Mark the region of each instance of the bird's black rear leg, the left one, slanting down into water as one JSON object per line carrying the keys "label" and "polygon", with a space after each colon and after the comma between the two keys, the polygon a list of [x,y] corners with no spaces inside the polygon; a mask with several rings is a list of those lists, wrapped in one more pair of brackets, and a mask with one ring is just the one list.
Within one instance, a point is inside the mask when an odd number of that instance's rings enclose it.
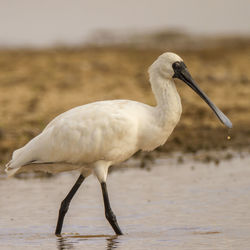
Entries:
{"label": "bird's black rear leg, the left one, slanting down into water", "polygon": [[56,235],[60,235],[61,234],[64,216],[65,216],[65,214],[67,213],[67,211],[69,209],[69,204],[70,204],[73,196],[75,195],[76,191],[81,186],[81,184],[84,181],[84,179],[85,179],[84,176],[80,175],[79,178],[77,179],[76,183],[74,184],[74,186],[69,191],[69,193],[66,196],[66,198],[62,201],[61,207],[60,207],[60,210],[59,210],[56,231],[55,231]]}

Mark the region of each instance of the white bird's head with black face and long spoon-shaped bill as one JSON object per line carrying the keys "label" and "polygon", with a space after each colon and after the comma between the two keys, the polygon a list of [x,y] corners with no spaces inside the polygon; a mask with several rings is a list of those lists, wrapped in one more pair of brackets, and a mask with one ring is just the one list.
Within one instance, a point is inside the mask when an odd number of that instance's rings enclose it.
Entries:
{"label": "white bird's head with black face and long spoon-shaped bill", "polygon": [[151,65],[149,69],[150,74],[157,74],[165,79],[178,78],[185,82],[190,88],[192,88],[214,111],[220,121],[227,126],[232,128],[231,121],[217,108],[207,95],[198,87],[189,73],[187,66],[183,60],[176,54],[166,52],[158,57],[158,59]]}

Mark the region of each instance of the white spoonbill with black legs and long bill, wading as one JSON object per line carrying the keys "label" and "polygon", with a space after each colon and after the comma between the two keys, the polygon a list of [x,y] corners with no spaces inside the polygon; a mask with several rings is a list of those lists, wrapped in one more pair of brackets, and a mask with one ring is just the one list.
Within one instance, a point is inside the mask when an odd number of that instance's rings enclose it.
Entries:
{"label": "white spoonbill with black legs and long bill, wading", "polygon": [[167,141],[182,113],[175,79],[191,87],[219,120],[232,128],[231,121],[198,87],[180,56],[165,52],[153,62],[148,72],[155,106],[132,100],[105,100],[75,107],[54,118],[39,135],[14,151],[6,164],[8,176],[36,170],[79,172],[78,179],[61,202],[55,235],[61,235],[73,196],[92,174],[101,185],[107,221],[116,235],[123,234],[109,201],[108,169],[139,150],[152,151]]}

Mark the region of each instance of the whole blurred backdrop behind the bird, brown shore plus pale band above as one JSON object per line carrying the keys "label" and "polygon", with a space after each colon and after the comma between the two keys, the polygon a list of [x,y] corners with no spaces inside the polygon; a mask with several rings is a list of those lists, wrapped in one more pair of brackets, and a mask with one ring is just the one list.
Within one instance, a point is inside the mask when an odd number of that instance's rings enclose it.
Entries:
{"label": "whole blurred backdrop behind the bird, brown shore plus pale band above", "polygon": [[0,162],[74,106],[115,98],[154,105],[147,68],[165,51],[185,60],[234,128],[178,82],[183,116],[158,152],[245,150],[249,23],[248,0],[0,1]]}

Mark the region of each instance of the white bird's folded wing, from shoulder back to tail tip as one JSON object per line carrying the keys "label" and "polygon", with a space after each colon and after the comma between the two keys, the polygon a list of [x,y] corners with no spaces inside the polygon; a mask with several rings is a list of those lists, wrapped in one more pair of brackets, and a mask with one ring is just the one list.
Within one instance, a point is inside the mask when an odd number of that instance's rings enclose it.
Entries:
{"label": "white bird's folded wing, from shoulder back to tail tip", "polygon": [[15,169],[35,162],[123,160],[138,150],[134,105],[129,101],[106,101],[69,110],[16,150],[6,167]]}

